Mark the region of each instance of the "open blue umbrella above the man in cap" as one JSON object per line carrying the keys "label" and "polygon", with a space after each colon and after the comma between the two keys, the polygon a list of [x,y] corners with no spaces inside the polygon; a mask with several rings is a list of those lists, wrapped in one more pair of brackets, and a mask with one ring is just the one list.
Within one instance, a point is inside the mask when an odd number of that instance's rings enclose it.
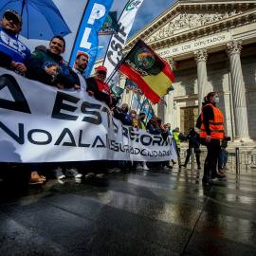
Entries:
{"label": "open blue umbrella above the man in cap", "polygon": [[27,39],[51,40],[55,35],[71,33],[51,0],[1,0],[0,18],[7,9],[18,11],[23,20],[20,34]]}

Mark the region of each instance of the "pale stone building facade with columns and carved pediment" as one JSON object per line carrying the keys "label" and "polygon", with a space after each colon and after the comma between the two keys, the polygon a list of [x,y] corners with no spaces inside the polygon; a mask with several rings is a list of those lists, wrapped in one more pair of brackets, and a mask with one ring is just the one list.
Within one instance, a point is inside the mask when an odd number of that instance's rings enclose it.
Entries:
{"label": "pale stone building facade with columns and carved pediment", "polygon": [[[155,113],[172,128],[193,125],[203,97],[220,96],[218,107],[234,145],[256,140],[256,1],[177,1],[126,43],[142,39],[171,65],[174,91]],[[120,86],[124,86],[122,78]],[[130,102],[131,92],[123,96]],[[186,131],[184,131],[186,134]]]}

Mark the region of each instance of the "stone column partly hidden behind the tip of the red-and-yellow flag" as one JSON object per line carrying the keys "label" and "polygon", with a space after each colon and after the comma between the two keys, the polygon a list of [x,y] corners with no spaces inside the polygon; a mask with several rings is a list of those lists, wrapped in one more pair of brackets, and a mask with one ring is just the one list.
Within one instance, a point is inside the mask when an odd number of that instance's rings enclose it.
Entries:
{"label": "stone column partly hidden behind the tip of the red-and-yellow flag", "polygon": [[[174,58],[169,57],[166,58],[165,61],[170,64],[172,70],[174,70],[175,62]],[[169,94],[164,96],[164,100],[167,103],[167,106],[164,106],[164,123],[171,123],[171,127],[173,128],[174,122],[174,92],[170,92]]]}

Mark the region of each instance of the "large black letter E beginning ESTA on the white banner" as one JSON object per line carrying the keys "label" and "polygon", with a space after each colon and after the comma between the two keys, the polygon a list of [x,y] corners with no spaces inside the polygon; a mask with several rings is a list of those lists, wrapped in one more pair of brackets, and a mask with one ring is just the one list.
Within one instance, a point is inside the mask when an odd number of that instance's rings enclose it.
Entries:
{"label": "large black letter E beginning ESTA on the white banner", "polygon": [[78,101],[80,101],[80,99],[77,97],[74,97],[72,95],[65,94],[63,92],[58,91],[57,95],[56,95],[55,102],[54,102],[54,107],[52,110],[51,118],[52,119],[63,119],[63,120],[78,119],[78,116],[72,116],[72,115],[67,115],[67,114],[61,113],[62,109],[66,110],[66,111],[70,111],[70,112],[75,112],[77,110],[77,107],[68,105],[68,104],[64,103],[63,101],[69,101],[69,102],[76,104]]}

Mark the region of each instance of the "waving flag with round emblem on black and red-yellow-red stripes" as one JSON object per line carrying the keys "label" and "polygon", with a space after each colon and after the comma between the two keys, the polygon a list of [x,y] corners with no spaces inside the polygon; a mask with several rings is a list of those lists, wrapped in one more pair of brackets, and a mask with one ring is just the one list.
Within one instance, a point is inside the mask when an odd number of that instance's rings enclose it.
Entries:
{"label": "waving flag with round emblem on black and red-yellow-red stripes", "polygon": [[119,71],[136,82],[145,97],[154,104],[167,93],[174,82],[170,65],[142,40],[138,40],[124,58]]}

